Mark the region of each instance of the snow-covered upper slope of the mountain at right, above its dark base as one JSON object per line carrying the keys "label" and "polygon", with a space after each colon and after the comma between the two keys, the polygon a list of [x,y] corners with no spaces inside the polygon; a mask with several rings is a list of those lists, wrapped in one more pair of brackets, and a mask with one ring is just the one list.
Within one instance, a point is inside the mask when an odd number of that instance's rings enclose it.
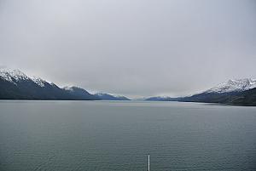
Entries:
{"label": "snow-covered upper slope of the mountain at right, above its dark base", "polygon": [[250,78],[233,79],[224,83],[218,84],[218,86],[208,89],[205,93],[230,93],[241,92],[248,89],[256,88],[256,80]]}

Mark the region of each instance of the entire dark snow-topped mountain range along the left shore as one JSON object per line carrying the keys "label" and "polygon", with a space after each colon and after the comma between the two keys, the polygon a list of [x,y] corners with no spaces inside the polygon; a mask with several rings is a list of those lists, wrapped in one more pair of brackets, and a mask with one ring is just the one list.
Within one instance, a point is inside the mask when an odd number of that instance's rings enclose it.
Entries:
{"label": "entire dark snow-topped mountain range along the left shore", "polygon": [[28,77],[19,70],[0,69],[1,100],[129,100],[110,94],[90,94],[75,86],[60,88],[40,77]]}

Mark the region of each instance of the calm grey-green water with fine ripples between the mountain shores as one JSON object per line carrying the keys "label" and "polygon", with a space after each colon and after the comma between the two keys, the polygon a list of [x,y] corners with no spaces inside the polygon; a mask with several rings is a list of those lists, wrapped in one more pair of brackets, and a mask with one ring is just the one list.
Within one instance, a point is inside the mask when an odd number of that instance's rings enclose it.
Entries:
{"label": "calm grey-green water with fine ripples between the mountain shores", "polygon": [[0,101],[0,170],[256,170],[256,107]]}

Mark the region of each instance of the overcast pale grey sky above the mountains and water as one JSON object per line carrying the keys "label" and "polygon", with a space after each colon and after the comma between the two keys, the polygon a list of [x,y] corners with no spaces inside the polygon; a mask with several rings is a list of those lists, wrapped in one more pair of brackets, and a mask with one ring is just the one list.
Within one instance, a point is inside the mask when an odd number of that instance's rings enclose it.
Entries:
{"label": "overcast pale grey sky above the mountains and water", "polygon": [[0,0],[0,65],[128,97],[256,78],[256,1]]}

